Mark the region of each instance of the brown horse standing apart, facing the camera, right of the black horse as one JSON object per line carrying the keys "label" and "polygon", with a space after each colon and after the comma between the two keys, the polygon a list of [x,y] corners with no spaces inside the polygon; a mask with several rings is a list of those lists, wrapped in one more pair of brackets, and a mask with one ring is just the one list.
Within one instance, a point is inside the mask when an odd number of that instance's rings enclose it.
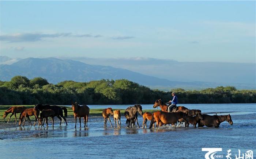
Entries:
{"label": "brown horse standing apart, facing the camera, right of the black horse", "polygon": [[[75,103],[72,102],[71,105],[72,105],[72,110],[74,113],[75,121],[76,121],[76,117],[79,117],[79,123],[80,123],[80,127],[81,127],[81,117],[83,117],[84,127],[87,127],[90,108],[87,105],[80,106],[80,105],[76,104],[76,102]],[[75,124],[75,128],[76,128],[76,124]]]}

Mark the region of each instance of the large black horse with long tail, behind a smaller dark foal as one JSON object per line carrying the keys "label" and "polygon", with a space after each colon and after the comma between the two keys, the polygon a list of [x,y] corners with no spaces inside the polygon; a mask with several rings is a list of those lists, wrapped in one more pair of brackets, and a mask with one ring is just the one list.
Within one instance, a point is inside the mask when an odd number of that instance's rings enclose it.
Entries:
{"label": "large black horse with long tail, behind a smaller dark foal", "polygon": [[[57,106],[57,105],[48,105],[48,104],[45,104],[45,105],[35,104],[34,108],[37,108],[40,111],[52,109],[55,112],[54,116],[57,116],[60,119],[60,125],[61,125],[61,118],[63,118],[65,120],[66,126],[68,125],[67,120],[66,120],[66,117],[68,116],[67,108],[65,108],[65,107],[61,108],[60,106]],[[64,116],[63,116],[63,111],[64,111]]]}

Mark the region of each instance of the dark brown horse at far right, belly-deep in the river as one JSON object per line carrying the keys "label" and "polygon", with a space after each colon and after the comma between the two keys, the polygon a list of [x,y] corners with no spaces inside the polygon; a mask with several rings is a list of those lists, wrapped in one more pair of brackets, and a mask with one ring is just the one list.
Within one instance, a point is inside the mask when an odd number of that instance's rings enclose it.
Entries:
{"label": "dark brown horse at far right, belly-deep in the river", "polygon": [[230,114],[229,115],[213,115],[213,116],[203,114],[202,116],[200,116],[200,119],[201,119],[201,123],[203,125],[206,125],[207,127],[218,128],[223,121],[227,121],[230,125],[233,125],[233,121],[231,119]]}

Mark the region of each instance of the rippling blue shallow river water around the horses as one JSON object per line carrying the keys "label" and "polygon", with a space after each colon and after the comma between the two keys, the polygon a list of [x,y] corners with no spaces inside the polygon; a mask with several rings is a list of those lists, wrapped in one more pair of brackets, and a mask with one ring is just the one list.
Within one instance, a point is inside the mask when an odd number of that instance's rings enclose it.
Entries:
{"label": "rippling blue shallow river water around the horses", "polygon": [[[241,153],[252,150],[256,155],[255,104],[196,106],[188,105],[188,108],[225,112],[221,114],[232,112],[234,124],[225,121],[220,128],[193,128],[192,125],[176,129],[169,126],[125,128],[122,117],[121,129],[109,127],[109,122],[105,129],[99,117],[89,118],[88,128],[75,129],[75,123],[68,123],[67,127],[55,124],[54,130],[33,126],[5,128],[0,129],[3,139],[0,140],[0,158],[204,158],[206,152],[202,152],[202,148],[208,147],[222,148],[216,155],[223,155],[223,158],[229,149],[232,158],[236,158],[238,149]],[[143,109],[148,108],[143,105]],[[114,124],[113,117],[111,119]],[[142,117],[138,120],[142,126]],[[59,123],[57,119],[56,123]],[[150,121],[147,126],[149,124]],[[10,151],[11,154],[7,153]]]}

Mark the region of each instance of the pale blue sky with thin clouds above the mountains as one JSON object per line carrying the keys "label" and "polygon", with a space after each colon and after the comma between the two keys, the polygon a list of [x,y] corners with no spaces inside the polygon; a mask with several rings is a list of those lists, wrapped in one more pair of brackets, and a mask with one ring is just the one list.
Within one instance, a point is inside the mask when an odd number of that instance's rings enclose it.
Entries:
{"label": "pale blue sky with thin clouds above the mountains", "polygon": [[255,63],[255,8],[255,1],[0,1],[0,54]]}

